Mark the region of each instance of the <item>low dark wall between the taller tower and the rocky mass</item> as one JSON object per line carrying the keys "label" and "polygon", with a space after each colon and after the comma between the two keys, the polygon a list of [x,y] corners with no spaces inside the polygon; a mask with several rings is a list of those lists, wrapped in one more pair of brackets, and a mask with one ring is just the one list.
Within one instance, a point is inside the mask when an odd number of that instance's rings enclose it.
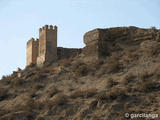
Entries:
{"label": "low dark wall between the taller tower and the rocky mass", "polygon": [[76,56],[79,53],[81,53],[81,49],[63,47],[57,48],[58,59],[69,58],[71,56]]}

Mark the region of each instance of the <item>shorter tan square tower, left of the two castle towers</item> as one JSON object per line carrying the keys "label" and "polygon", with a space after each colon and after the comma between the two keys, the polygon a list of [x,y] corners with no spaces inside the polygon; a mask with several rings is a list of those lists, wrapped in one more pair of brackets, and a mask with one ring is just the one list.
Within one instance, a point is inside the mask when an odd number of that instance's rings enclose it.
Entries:
{"label": "shorter tan square tower, left of the two castle towers", "polygon": [[34,38],[31,38],[27,42],[27,66],[37,63],[39,47],[38,42],[39,40],[35,40]]}

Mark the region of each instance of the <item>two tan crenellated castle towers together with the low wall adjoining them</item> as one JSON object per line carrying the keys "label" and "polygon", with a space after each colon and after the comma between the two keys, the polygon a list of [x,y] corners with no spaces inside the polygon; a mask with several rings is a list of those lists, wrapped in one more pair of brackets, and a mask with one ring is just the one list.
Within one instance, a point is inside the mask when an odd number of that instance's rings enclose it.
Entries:
{"label": "two tan crenellated castle towers together with the low wall adjoining them", "polygon": [[27,42],[27,66],[40,66],[81,52],[81,49],[57,47],[57,29],[57,26],[45,25],[39,29],[39,39],[31,38]]}

